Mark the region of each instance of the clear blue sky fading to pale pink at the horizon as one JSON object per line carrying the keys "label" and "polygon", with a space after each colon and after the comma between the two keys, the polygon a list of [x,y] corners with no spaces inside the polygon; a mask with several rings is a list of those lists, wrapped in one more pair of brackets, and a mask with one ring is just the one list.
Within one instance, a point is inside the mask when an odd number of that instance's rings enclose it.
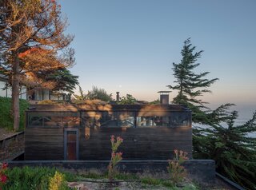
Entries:
{"label": "clear blue sky fading to pale pink at the horizon", "polygon": [[[172,63],[182,59],[191,38],[203,50],[196,73],[218,77],[203,100],[211,108],[234,103],[240,117],[256,110],[255,0],[59,0],[73,34],[76,65],[84,91],[132,94],[154,101],[174,85]],[[170,93],[170,100],[177,92]]]}

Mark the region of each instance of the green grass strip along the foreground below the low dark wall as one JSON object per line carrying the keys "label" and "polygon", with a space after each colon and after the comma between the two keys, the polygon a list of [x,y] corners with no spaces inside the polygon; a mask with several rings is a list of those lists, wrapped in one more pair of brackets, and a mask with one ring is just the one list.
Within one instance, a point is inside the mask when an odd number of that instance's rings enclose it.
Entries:
{"label": "green grass strip along the foreground below the low dark wall", "polygon": [[[3,190],[14,190],[14,189],[49,189],[50,180],[53,180],[55,172],[64,176],[64,188],[70,189],[67,187],[67,181],[79,181],[86,179],[97,179],[97,180],[107,180],[106,173],[100,173],[95,171],[86,171],[81,170],[80,173],[70,172],[68,170],[60,170],[58,168],[48,168],[48,167],[14,167],[8,168],[6,175],[8,176],[8,182],[3,186]],[[172,190],[196,190],[198,187],[192,182],[186,183],[182,188],[174,187],[174,184],[170,180],[155,179],[148,176],[138,176],[135,174],[125,174],[118,173],[115,177],[116,180],[124,181],[134,181],[141,184],[142,188],[146,189],[157,189],[158,187],[166,187]],[[62,188],[60,188],[62,189]],[[118,189],[118,187],[116,188]]]}

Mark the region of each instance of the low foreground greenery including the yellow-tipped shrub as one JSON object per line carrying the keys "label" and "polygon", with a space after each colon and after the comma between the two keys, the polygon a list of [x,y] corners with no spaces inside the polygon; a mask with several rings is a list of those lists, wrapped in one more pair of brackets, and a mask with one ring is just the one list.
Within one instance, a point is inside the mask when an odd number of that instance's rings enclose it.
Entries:
{"label": "low foreground greenery including the yellow-tipped shrub", "polygon": [[[67,190],[66,181],[78,181],[84,180],[81,176],[74,175],[70,172],[60,172],[56,168],[47,167],[14,167],[8,168],[6,170],[6,175],[8,176],[7,183],[3,186],[2,190],[46,190],[46,189],[59,189]],[[99,175],[98,173],[90,172],[86,174],[86,178],[94,179],[106,179],[106,175]],[[125,174],[118,173],[116,176],[119,180],[135,180],[140,181],[141,184],[145,184],[144,187],[147,189],[156,189],[162,186],[168,187],[170,189],[191,189],[195,190],[194,184],[186,183],[183,188],[176,188],[170,180],[156,179],[149,176],[138,176],[136,174]],[[59,184],[59,185],[58,185]],[[156,187],[154,187],[156,186]]]}

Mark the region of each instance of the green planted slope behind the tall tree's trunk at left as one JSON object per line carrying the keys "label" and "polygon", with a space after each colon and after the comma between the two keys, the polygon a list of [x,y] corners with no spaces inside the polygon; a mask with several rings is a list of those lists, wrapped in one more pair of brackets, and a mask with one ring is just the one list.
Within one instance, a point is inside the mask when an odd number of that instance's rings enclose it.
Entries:
{"label": "green planted slope behind the tall tree's trunk at left", "polygon": [[[25,110],[29,107],[26,100],[20,100],[20,123],[19,130],[25,127]],[[14,128],[14,119],[11,117],[11,98],[0,97],[0,127],[12,130]]]}

